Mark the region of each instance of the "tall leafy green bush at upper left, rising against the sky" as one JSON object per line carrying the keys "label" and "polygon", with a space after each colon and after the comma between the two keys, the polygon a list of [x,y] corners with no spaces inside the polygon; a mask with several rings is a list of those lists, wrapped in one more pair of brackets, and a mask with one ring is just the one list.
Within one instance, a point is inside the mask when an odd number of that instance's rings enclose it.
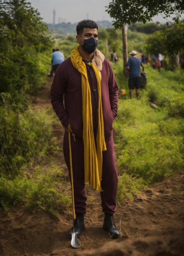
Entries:
{"label": "tall leafy green bush at upper left, rising against the sky", "polygon": [[30,3],[0,0],[0,93],[27,105],[27,96],[45,82],[50,63],[45,51],[51,47],[48,28]]}

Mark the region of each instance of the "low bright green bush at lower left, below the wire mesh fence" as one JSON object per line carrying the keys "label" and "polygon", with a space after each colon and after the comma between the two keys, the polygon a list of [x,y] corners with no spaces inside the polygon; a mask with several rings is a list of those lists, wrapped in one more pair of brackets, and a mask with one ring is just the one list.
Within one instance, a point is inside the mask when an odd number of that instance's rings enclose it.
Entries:
{"label": "low bright green bush at lower left, below the wire mesh fence", "polygon": [[24,204],[32,212],[40,209],[56,218],[56,211],[71,204],[71,199],[61,192],[61,174],[61,171],[37,169],[32,179],[0,178],[0,210],[8,212],[11,205]]}

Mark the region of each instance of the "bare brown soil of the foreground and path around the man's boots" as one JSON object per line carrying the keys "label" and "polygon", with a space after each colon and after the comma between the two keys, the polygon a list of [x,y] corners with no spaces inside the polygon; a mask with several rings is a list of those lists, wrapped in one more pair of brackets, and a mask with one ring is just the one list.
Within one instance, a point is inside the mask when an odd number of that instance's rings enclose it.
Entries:
{"label": "bare brown soil of the foreground and path around the man's boots", "polygon": [[[33,107],[51,107],[51,84],[52,78],[48,78],[33,100]],[[68,177],[62,151],[64,130],[54,124],[52,133],[60,147],[56,164]],[[12,207],[9,215],[0,214],[0,255],[183,255],[183,178],[180,172],[143,189],[141,195],[134,195],[134,200],[127,198],[118,203],[115,221],[121,236],[116,240],[102,229],[104,215],[99,192],[86,186],[88,196],[94,200],[87,201],[86,228],[78,249],[71,247],[68,238],[72,209],[61,212],[55,220],[45,212],[32,214],[24,206]]]}

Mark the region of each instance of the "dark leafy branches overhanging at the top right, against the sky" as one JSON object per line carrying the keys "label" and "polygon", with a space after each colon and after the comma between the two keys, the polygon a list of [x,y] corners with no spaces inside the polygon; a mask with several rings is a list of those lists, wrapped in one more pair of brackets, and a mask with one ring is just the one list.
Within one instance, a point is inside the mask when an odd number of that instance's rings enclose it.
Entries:
{"label": "dark leafy branches overhanging at the top right, against the sky", "polygon": [[121,29],[122,24],[131,24],[137,21],[146,23],[153,16],[163,13],[165,17],[171,14],[180,15],[183,12],[181,0],[112,0],[107,7],[108,14],[115,19],[115,29]]}

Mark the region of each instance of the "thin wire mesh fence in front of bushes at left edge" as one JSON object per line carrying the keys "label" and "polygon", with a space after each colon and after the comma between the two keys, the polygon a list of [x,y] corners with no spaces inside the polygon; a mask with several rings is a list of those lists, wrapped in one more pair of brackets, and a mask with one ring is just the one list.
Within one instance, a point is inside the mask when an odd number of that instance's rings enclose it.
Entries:
{"label": "thin wire mesh fence in front of bushes at left edge", "polygon": [[38,164],[40,150],[23,109],[0,104],[0,177],[12,179]]}

